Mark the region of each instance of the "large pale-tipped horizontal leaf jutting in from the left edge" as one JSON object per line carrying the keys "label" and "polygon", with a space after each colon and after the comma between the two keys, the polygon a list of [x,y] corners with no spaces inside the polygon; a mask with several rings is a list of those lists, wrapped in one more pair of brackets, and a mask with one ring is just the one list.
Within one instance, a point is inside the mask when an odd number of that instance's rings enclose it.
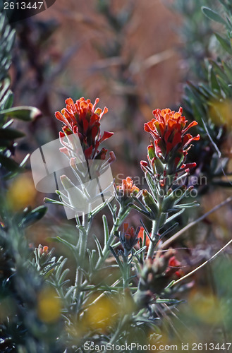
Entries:
{"label": "large pale-tipped horizontal leaf jutting in from the left edge", "polygon": [[5,116],[11,116],[13,118],[17,118],[23,121],[32,121],[38,116],[41,116],[41,112],[39,109],[35,107],[14,107],[10,109],[4,109],[1,111],[1,114]]}

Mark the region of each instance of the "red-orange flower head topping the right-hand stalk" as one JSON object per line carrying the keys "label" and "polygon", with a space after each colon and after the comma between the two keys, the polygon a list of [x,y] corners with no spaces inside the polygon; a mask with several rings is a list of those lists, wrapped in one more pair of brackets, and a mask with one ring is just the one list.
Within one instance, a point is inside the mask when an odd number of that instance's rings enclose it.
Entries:
{"label": "red-orange flower head topping the right-hand stalk", "polygon": [[[199,140],[200,135],[193,137],[188,129],[197,125],[197,121],[186,126],[187,120],[182,116],[182,108],[178,112],[171,109],[155,109],[154,119],[145,124],[145,131],[154,138],[154,150],[161,162],[169,164],[169,174],[176,171],[178,165],[185,162],[187,151],[193,140]],[[191,165],[193,167],[193,165]]]}

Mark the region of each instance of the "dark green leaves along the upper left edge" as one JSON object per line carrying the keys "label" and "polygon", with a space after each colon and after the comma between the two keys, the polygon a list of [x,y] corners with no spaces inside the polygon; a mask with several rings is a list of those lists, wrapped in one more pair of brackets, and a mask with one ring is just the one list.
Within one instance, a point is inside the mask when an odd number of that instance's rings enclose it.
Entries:
{"label": "dark green leaves along the upper left edge", "polygon": [[[16,37],[16,31],[7,24],[6,17],[0,13],[0,166],[4,179],[8,179],[23,171],[29,155],[18,164],[11,156],[16,148],[15,139],[24,136],[24,133],[11,128],[13,119],[31,121],[40,115],[34,107],[14,107],[13,92],[11,92],[11,80],[8,69],[11,66],[11,51]],[[8,118],[11,118],[10,120]]]}

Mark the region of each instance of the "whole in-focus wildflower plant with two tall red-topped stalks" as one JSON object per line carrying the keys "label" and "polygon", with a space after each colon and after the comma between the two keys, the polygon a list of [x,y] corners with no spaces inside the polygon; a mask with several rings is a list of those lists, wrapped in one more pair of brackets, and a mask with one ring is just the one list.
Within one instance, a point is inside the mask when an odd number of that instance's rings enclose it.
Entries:
{"label": "whole in-focus wildflower plant with two tall red-topped stalks", "polygon": [[[56,238],[68,246],[73,254],[76,266],[74,284],[70,286],[67,280],[64,280],[68,274],[68,269],[64,267],[65,259],[61,258],[58,262],[54,259],[53,263],[46,246],[40,246],[36,252],[37,268],[40,268],[41,273],[45,270],[49,274],[50,266],[54,268],[50,282],[63,301],[63,315],[68,323],[67,335],[70,340],[74,340],[76,347],[80,347],[83,337],[87,339],[93,335],[94,339],[101,342],[107,342],[107,337],[111,337],[110,342],[118,342],[122,332],[127,337],[130,325],[136,328],[143,323],[147,325],[147,329],[156,326],[152,305],[157,304],[161,301],[160,297],[166,295],[164,294],[166,287],[175,278],[179,266],[174,251],[170,250],[164,255],[159,253],[159,240],[167,237],[176,227],[177,223],[173,223],[173,220],[183,213],[185,208],[197,205],[195,201],[181,203],[183,199],[188,198],[193,189],[193,186],[187,188],[181,181],[191,168],[196,167],[195,163],[187,161],[188,150],[191,143],[199,140],[200,136],[192,136],[189,133],[189,129],[196,126],[197,122],[192,121],[188,124],[180,108],[178,112],[156,109],[153,112],[154,119],[145,124],[145,131],[152,136],[152,141],[147,147],[147,162],[140,162],[145,173],[147,189],[140,190],[133,183],[133,179],[126,177],[121,185],[114,184],[114,194],[111,194],[107,202],[102,198],[102,203],[97,208],[91,207],[90,198],[96,195],[96,190],[90,195],[86,174],[92,174],[94,171],[94,176],[97,177],[97,173],[100,175],[102,169],[109,167],[116,159],[114,152],[109,152],[107,159],[107,150],[99,147],[103,140],[111,137],[113,133],[104,132],[101,136],[99,121],[108,109],[104,108],[102,111],[97,108],[98,101],[97,99],[92,104],[90,100],[82,97],[74,103],[69,98],[66,100],[66,108],[61,113],[56,112],[56,118],[63,123],[60,133],[62,146],[60,153],[68,158],[74,179],[71,181],[70,173],[69,177],[61,175],[61,184],[66,195],[56,191],[59,201],[52,199],[45,201],[68,206],[75,213],[77,239],[69,241],[62,237]],[[80,139],[80,144],[77,143],[77,138]],[[96,160],[101,160],[102,164],[94,164]],[[83,167],[84,164],[87,164],[87,169]],[[105,194],[104,185],[100,193]],[[89,208],[85,208],[84,201],[90,205]],[[104,245],[102,246],[99,239],[93,235],[96,252],[95,249],[91,250],[88,247],[92,220],[104,207],[110,210],[112,227],[110,230],[110,221],[103,215]],[[145,216],[152,220],[151,230],[145,227],[142,220],[144,227],[138,225],[136,230],[128,222],[124,222],[132,209],[138,211],[141,217]],[[83,212],[80,213],[80,210]],[[108,265],[108,258],[114,259],[115,263],[113,261]],[[169,267],[171,263],[176,265],[175,270]],[[111,270],[114,268],[119,271],[116,282],[111,280]],[[95,279],[105,270],[107,270],[106,278],[100,285]],[[102,294],[97,299],[94,297],[93,301],[97,304],[91,304],[90,298],[99,290]],[[116,294],[121,294],[121,299],[116,299]],[[92,310],[95,310],[98,301],[100,303],[104,300],[102,296],[111,298],[113,302],[119,300],[120,305],[115,309],[114,320],[111,321],[109,318],[110,313],[105,313],[102,320],[108,323],[107,328],[105,326],[103,328],[100,319],[100,322],[91,323],[87,328],[89,317],[93,315]],[[169,299],[165,300],[169,303]],[[172,303],[172,299],[170,300]],[[125,301],[130,303],[130,310],[126,314],[119,309],[125,305]],[[143,310],[142,314],[140,310]],[[80,327],[85,329],[82,331]]]}

